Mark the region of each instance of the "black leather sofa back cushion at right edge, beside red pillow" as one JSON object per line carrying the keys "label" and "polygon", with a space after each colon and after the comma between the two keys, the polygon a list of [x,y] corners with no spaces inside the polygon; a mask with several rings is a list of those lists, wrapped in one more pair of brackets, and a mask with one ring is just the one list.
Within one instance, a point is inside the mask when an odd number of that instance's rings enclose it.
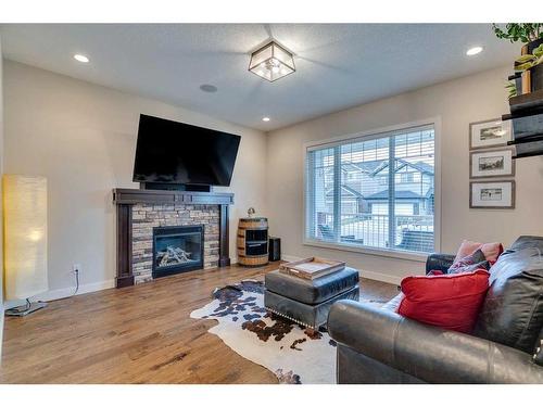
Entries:
{"label": "black leather sofa back cushion at right edge, beside red pillow", "polygon": [[543,238],[521,238],[490,269],[475,334],[532,353],[543,326]]}

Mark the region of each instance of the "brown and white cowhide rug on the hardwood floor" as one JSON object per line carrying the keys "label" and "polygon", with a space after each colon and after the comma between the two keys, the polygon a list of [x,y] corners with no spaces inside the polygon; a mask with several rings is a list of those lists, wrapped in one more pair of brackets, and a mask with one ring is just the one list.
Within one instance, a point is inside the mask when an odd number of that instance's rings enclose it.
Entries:
{"label": "brown and white cowhide rug on the hardwood floor", "polygon": [[216,289],[213,301],[190,314],[216,319],[209,330],[244,358],[277,376],[279,383],[336,383],[336,342],[264,308],[264,284],[244,280]]}

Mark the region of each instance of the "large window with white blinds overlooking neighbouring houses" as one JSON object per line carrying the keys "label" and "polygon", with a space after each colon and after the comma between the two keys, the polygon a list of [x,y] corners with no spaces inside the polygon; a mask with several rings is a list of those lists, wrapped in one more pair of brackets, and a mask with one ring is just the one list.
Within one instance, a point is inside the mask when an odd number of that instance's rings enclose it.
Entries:
{"label": "large window with white blinds overlooking neighbouring houses", "polygon": [[434,151],[432,125],[307,148],[306,241],[432,252]]}

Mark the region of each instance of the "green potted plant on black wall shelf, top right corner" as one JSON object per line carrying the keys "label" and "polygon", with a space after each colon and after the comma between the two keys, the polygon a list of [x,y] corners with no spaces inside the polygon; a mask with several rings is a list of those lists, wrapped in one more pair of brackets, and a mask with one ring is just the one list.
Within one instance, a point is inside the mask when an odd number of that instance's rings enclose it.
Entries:
{"label": "green potted plant on black wall shelf, top right corner", "polygon": [[497,38],[523,43],[515,61],[515,71],[522,74],[522,93],[543,89],[543,23],[508,23],[505,28],[493,24],[492,29]]}

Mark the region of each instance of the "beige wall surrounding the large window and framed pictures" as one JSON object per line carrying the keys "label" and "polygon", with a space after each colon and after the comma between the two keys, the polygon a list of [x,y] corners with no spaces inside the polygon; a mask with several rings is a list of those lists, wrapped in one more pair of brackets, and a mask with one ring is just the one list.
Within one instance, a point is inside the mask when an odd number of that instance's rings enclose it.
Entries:
{"label": "beige wall surrounding the large window and framed pictures", "polygon": [[282,238],[283,254],[343,258],[368,271],[368,276],[388,281],[400,281],[402,276],[421,272],[424,264],[420,262],[303,245],[302,144],[437,116],[442,122],[442,250],[455,252],[464,238],[509,244],[519,234],[543,236],[542,157],[517,162],[516,209],[470,209],[468,205],[468,125],[507,113],[504,84],[508,74],[509,67],[496,68],[270,132],[267,209],[272,233]]}

